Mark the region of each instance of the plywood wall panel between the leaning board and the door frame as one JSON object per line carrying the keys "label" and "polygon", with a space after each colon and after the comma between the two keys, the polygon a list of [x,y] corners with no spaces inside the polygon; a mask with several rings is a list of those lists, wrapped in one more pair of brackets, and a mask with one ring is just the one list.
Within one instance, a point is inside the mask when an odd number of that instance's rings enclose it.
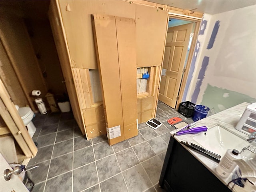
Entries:
{"label": "plywood wall panel between the leaning board and the door frame", "polygon": [[167,11],[136,5],[138,67],[162,65],[167,22]]}

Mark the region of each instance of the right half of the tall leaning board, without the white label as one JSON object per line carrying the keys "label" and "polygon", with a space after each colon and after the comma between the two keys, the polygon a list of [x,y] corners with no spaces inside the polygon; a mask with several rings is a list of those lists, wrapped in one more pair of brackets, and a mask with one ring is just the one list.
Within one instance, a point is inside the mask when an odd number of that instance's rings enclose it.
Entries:
{"label": "right half of the tall leaning board, without the white label", "polygon": [[116,18],[118,60],[121,82],[124,139],[138,135],[137,130],[137,84],[135,21]]}

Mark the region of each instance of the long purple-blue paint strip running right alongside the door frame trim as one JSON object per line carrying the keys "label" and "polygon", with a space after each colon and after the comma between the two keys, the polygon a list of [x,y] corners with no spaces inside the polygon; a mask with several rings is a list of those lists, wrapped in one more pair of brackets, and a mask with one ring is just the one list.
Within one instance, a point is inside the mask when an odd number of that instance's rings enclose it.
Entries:
{"label": "long purple-blue paint strip running right alongside the door frame trim", "polygon": [[190,64],[190,70],[189,70],[189,73],[188,73],[188,79],[187,79],[186,86],[185,86],[185,89],[184,89],[182,102],[184,102],[186,100],[186,96],[188,94],[188,88],[190,86],[190,82],[192,80],[193,73],[194,73],[194,70],[195,70],[196,58],[197,58],[199,49],[200,49],[200,42],[197,40],[196,47],[195,47],[195,50],[194,50],[194,54],[193,54],[193,57],[192,57],[192,61],[191,61],[191,64]]}

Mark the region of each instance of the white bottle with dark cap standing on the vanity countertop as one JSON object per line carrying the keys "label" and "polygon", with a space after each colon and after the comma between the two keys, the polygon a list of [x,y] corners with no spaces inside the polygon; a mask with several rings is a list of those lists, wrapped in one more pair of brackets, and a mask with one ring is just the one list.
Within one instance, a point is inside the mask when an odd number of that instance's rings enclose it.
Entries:
{"label": "white bottle with dark cap standing on the vanity countertop", "polygon": [[241,159],[241,155],[238,150],[229,149],[222,157],[222,160],[216,167],[216,172],[222,177],[228,177],[232,170],[236,167],[234,160]]}

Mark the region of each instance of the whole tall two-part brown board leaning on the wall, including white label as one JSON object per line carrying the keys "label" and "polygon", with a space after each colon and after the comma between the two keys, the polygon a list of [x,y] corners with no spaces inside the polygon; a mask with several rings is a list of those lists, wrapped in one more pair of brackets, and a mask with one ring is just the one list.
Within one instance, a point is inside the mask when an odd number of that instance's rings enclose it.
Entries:
{"label": "whole tall two-part brown board leaning on the wall, including white label", "polygon": [[108,142],[113,145],[138,135],[135,21],[99,14],[93,19]]}

